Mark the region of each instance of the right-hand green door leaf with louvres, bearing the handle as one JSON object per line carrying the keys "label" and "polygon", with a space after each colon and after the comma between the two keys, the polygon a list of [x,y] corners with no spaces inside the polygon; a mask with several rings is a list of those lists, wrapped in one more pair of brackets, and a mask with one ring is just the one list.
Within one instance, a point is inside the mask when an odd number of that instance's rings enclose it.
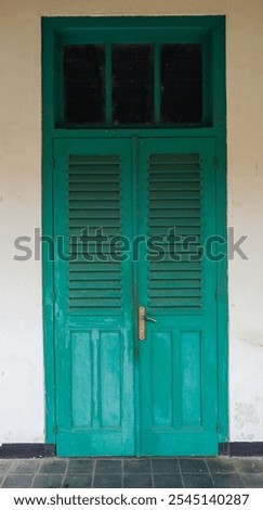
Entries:
{"label": "right-hand green door leaf with louvres, bearing the handle", "polygon": [[215,232],[213,161],[210,140],[140,141],[137,225],[153,251],[139,301],[157,320],[139,343],[141,455],[216,452],[216,265],[202,257]]}

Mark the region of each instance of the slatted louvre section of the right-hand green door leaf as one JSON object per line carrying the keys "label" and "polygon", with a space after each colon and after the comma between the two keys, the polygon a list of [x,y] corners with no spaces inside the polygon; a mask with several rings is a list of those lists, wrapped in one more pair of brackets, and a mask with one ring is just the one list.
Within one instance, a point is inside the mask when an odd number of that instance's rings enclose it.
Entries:
{"label": "slatted louvre section of the right-hand green door leaf", "polygon": [[200,311],[202,252],[199,155],[149,156],[148,204],[150,310],[153,314]]}

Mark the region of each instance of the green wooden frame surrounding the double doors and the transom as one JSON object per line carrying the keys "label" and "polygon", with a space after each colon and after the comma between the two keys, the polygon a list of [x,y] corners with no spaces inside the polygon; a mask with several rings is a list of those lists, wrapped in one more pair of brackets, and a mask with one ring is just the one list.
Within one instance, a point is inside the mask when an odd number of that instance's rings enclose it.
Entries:
{"label": "green wooden frame surrounding the double doors and the transom", "polygon": [[[55,43],[57,34],[68,28],[100,29],[129,27],[140,30],[158,26],[176,30],[207,29],[212,41],[212,122],[201,128],[154,129],[64,129],[56,127]],[[54,188],[53,140],[55,138],[111,138],[134,136],[161,138],[214,138],[216,146],[216,234],[227,239],[226,227],[226,91],[225,91],[225,17],[224,16],[134,16],[128,17],[43,17],[42,18],[42,235],[53,239]],[[54,264],[49,257],[49,242],[42,245],[43,281],[43,340],[45,373],[45,443],[56,442],[55,362],[54,362]],[[227,246],[220,246],[224,258],[218,267],[218,434],[219,443],[228,441],[228,306],[227,306]]]}

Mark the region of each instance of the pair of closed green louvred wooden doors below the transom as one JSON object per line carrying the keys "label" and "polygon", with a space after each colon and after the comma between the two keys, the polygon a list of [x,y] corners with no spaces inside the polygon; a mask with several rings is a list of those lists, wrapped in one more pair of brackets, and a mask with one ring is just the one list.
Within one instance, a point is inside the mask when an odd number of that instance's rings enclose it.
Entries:
{"label": "pair of closed green louvred wooden doors below the transom", "polygon": [[213,143],[55,141],[58,455],[216,454]]}

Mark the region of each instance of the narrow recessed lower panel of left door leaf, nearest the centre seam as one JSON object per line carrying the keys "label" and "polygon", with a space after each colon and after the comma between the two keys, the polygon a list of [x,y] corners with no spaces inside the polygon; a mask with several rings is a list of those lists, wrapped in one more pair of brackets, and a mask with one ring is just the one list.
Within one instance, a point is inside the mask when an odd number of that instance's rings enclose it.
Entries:
{"label": "narrow recessed lower panel of left door leaf, nearest the centre seam", "polygon": [[102,332],[98,342],[101,425],[118,429],[121,426],[121,335],[119,332]]}

